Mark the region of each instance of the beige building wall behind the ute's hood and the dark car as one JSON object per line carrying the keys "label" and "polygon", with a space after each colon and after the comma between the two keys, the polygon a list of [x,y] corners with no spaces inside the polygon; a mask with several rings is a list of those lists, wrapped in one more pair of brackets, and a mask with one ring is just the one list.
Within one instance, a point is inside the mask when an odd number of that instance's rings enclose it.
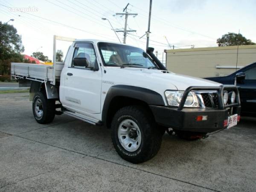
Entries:
{"label": "beige building wall behind the ute's hood and the dark car", "polygon": [[[169,49],[166,67],[174,73],[195,77],[226,76],[236,71],[237,46]],[[256,45],[239,46],[238,69],[256,62]]]}

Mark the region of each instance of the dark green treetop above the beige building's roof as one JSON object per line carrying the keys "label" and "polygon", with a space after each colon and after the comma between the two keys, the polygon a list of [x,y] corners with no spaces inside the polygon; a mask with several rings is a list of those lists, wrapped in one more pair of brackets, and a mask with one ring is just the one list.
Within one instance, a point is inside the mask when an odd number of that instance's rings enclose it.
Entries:
{"label": "dark green treetop above the beige building's roof", "polygon": [[217,39],[218,47],[234,45],[255,45],[250,39],[245,38],[242,34],[227,33]]}

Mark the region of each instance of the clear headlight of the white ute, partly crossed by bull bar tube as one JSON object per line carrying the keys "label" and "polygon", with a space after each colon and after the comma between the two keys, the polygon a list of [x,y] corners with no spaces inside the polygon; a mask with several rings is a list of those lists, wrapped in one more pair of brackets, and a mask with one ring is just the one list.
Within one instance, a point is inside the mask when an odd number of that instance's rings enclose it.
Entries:
{"label": "clear headlight of the white ute, partly crossed by bull bar tube", "polygon": [[[166,100],[170,106],[179,106],[184,91],[169,91],[165,92]],[[184,107],[199,108],[199,102],[194,92],[189,92]]]}

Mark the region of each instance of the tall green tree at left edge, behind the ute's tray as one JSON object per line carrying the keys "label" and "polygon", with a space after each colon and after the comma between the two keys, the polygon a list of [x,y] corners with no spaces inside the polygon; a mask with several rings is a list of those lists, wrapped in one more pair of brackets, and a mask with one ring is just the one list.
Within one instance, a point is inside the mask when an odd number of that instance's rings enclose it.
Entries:
{"label": "tall green tree at left edge, behind the ute's tray", "polygon": [[[2,22],[0,22],[0,26]],[[0,74],[10,74],[11,62],[23,61],[24,47],[21,35],[17,34],[14,26],[3,24],[0,32]]]}

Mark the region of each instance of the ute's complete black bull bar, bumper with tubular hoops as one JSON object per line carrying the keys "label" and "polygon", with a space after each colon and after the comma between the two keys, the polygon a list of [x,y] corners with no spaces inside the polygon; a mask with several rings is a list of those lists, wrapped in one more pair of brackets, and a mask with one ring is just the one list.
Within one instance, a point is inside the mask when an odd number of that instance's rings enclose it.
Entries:
{"label": "ute's complete black bull bar, bumper with tubular hoops", "polygon": [[[213,108],[184,108],[190,91],[217,92],[218,105]],[[224,91],[235,91],[234,103],[224,104]],[[219,87],[188,87],[182,96],[179,107],[150,105],[155,121],[165,127],[183,131],[210,133],[227,128],[228,117],[238,114],[240,117],[241,105],[238,87],[221,85]],[[198,116],[207,116],[207,120],[198,121]],[[238,118],[239,119],[239,118]]]}

